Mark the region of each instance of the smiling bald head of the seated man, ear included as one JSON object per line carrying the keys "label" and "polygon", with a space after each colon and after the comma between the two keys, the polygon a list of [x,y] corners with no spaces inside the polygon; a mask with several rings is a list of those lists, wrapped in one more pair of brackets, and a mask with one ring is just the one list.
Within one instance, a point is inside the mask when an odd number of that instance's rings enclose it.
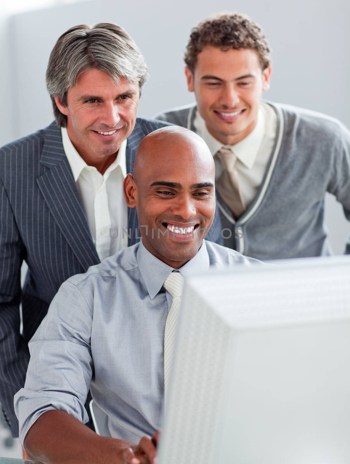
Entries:
{"label": "smiling bald head of the seated man, ear included", "polygon": [[186,129],[163,128],[140,144],[125,199],[137,207],[145,247],[174,268],[197,254],[212,224],[214,177],[208,147]]}

